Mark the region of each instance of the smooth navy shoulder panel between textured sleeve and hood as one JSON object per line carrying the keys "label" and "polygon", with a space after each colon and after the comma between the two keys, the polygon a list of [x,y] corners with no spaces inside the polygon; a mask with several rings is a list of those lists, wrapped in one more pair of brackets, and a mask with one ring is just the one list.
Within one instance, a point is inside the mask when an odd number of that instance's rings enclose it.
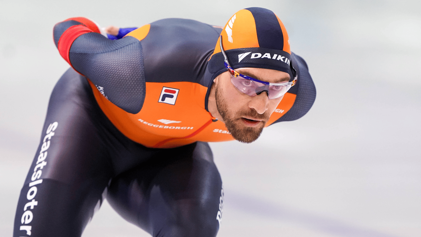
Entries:
{"label": "smooth navy shoulder panel between textured sleeve and hood", "polygon": [[163,19],[150,24],[141,40],[147,81],[197,81],[205,72],[220,28],[189,19]]}

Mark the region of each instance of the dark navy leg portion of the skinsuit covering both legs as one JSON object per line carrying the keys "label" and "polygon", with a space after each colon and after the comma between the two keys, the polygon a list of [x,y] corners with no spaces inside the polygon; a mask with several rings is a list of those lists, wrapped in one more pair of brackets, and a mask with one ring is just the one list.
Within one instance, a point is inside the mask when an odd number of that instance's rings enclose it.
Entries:
{"label": "dark navy leg portion of the skinsuit covering both legs", "polygon": [[69,69],[51,94],[13,237],[80,237],[104,197],[156,237],[216,236],[224,200],[207,143],[133,142],[102,113],[86,78]]}

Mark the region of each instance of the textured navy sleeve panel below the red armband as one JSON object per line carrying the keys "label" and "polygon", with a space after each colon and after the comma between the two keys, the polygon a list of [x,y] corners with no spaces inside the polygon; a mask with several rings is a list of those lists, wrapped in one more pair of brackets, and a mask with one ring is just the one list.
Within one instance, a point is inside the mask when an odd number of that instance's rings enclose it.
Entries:
{"label": "textured navy sleeve panel below the red armband", "polygon": [[79,36],[70,48],[70,62],[109,101],[129,113],[139,113],[145,98],[143,51],[139,40],[108,40],[98,33]]}

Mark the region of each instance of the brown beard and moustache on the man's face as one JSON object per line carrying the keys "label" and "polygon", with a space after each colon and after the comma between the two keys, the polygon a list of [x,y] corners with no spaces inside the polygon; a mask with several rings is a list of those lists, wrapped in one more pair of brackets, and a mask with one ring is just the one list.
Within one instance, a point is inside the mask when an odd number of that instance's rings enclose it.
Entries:
{"label": "brown beard and moustache on the man's face", "polygon": [[[218,85],[215,86],[215,100],[216,100],[216,108],[218,109],[219,114],[221,115],[222,119],[224,119],[225,127],[228,129],[228,132],[231,133],[232,137],[235,140],[242,142],[242,143],[252,143],[260,137],[264,125],[266,124],[266,116],[264,114],[259,114],[256,110],[250,108],[249,111],[242,113],[242,115],[237,114],[237,119],[229,117],[228,115],[228,106],[222,97],[221,90],[218,89]],[[253,118],[261,118],[265,119],[263,122],[264,124],[261,127],[237,127],[235,125],[235,121],[240,119],[242,116],[250,116]],[[240,121],[241,122],[241,121]]]}

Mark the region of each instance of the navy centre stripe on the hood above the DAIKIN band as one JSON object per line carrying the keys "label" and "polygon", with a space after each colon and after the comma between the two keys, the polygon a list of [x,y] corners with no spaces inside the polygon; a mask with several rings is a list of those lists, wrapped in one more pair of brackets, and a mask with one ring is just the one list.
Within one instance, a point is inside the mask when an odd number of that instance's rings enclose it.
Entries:
{"label": "navy centre stripe on the hood above the DAIKIN band", "polygon": [[275,13],[266,8],[245,9],[253,14],[259,46],[283,50],[284,37]]}

